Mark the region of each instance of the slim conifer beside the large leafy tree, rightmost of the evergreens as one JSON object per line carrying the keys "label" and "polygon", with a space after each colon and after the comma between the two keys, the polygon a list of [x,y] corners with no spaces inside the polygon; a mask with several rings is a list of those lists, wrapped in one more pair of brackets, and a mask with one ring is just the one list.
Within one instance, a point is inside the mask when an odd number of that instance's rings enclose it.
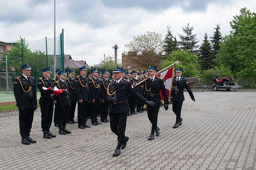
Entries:
{"label": "slim conifer beside the large leafy tree, rightmost of the evergreens", "polygon": [[221,42],[222,36],[221,36],[221,33],[219,32],[220,30],[219,24],[214,29],[215,31],[213,33],[213,36],[210,38],[211,38],[211,45],[212,45],[212,55],[215,59],[219,51],[219,43]]}

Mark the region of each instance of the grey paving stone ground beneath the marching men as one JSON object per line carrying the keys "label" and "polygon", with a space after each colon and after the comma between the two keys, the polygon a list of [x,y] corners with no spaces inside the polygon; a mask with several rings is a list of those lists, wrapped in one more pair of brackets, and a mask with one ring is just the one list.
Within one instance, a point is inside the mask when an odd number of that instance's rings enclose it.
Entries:
{"label": "grey paving stone ground beneath the marching men", "polygon": [[[253,170],[256,169],[256,91],[185,93],[183,125],[173,129],[172,106],[160,108],[160,136],[148,141],[151,124],[146,113],[128,117],[127,147],[113,157],[117,137],[109,123],[78,129],[70,135],[44,139],[40,112],[31,137],[37,144],[23,145],[18,115],[0,117],[0,169],[40,170]],[[90,124],[90,123],[89,123]]]}

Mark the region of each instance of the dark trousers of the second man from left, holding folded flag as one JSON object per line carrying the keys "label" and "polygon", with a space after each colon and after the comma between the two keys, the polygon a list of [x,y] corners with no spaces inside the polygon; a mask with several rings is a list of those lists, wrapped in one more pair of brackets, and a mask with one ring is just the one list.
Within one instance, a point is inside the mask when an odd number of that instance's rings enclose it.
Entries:
{"label": "dark trousers of the second man from left, holding folded flag", "polygon": [[41,127],[44,131],[50,129],[53,121],[53,105],[40,104],[41,109]]}

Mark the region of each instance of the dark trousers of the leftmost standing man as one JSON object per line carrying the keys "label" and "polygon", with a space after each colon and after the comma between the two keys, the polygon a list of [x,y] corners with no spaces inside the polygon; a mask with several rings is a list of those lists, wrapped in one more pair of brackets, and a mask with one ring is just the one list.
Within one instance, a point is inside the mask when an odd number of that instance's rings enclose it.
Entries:
{"label": "dark trousers of the leftmost standing man", "polygon": [[21,137],[27,136],[31,131],[32,122],[34,118],[34,109],[24,109],[18,110],[18,120],[19,120],[19,133]]}

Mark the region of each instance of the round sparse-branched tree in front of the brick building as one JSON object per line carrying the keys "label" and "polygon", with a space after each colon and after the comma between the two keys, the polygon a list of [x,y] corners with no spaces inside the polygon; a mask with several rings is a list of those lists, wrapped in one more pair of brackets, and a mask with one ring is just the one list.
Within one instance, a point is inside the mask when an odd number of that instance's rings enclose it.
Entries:
{"label": "round sparse-branched tree in front of the brick building", "polygon": [[162,35],[155,32],[134,36],[133,40],[125,44],[129,52],[125,52],[128,59],[137,63],[139,68],[147,68],[150,64],[159,64],[163,52]]}

